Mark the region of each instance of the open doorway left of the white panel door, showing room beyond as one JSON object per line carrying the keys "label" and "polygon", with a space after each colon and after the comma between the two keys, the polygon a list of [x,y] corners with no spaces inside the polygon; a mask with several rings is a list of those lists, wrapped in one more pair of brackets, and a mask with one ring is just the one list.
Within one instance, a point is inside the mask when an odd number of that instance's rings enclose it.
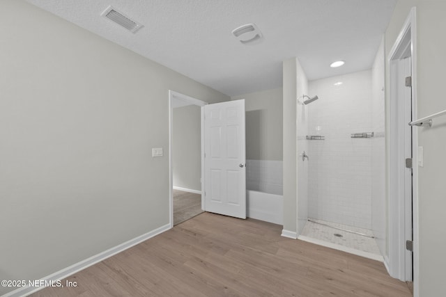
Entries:
{"label": "open doorway left of the white panel door, showing room beyond", "polygon": [[178,225],[203,212],[202,112],[207,103],[169,90],[169,212]]}

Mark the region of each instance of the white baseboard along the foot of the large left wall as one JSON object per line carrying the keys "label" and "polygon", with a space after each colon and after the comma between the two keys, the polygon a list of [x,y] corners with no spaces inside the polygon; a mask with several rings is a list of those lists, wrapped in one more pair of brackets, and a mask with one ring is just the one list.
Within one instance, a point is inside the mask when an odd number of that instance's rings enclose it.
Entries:
{"label": "white baseboard along the foot of the large left wall", "polygon": [[[146,241],[147,239],[151,239],[153,236],[156,236],[157,234],[161,234],[162,232],[165,232],[165,231],[169,230],[170,228],[171,228],[170,224],[161,226],[155,230],[152,230],[151,232],[147,232],[146,234],[137,236],[134,239],[125,241],[124,243],[121,243],[118,246],[109,248],[108,250],[100,252],[97,255],[89,257],[88,259],[84,259],[81,262],[77,262],[76,264],[73,264],[71,266],[63,268],[60,271],[52,273],[51,275],[47,275],[44,278],[41,278],[41,280],[44,280],[47,282],[51,282],[51,281],[56,282],[56,280],[63,280],[64,278],[68,278],[68,276],[70,276],[70,275],[73,275],[79,271],[82,271],[83,269],[85,269],[89,266],[92,266],[98,262],[101,262],[101,261],[109,258],[109,257],[112,257],[113,255],[116,255],[119,252],[122,252],[123,250],[127,250],[128,248],[131,248],[132,246],[136,246],[138,243]],[[32,294],[32,293],[39,291],[40,289],[44,289],[44,288],[45,287],[21,287],[20,289],[10,291],[6,295],[2,295],[1,297],[28,296],[29,294]]]}

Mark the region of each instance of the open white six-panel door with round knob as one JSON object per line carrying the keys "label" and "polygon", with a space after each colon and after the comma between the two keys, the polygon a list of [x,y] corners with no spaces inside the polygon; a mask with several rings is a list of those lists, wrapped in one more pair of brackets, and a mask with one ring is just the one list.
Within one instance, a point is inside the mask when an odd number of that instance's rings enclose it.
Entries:
{"label": "open white six-panel door with round knob", "polygon": [[204,106],[204,210],[246,218],[245,100]]}

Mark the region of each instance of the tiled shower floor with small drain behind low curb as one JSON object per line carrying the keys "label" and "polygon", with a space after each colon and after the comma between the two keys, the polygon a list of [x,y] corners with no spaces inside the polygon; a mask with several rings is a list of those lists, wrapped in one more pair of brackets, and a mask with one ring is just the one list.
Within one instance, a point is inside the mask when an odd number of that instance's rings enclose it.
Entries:
{"label": "tiled shower floor with small drain behind low curb", "polygon": [[[330,223],[325,220],[317,220],[314,218],[310,218],[310,220],[314,220],[315,222],[323,223],[325,225],[330,225],[333,227],[339,227],[346,230],[360,232],[370,236],[373,235],[372,232],[367,229],[341,225],[338,223]],[[325,225],[320,225],[317,223],[307,221],[300,235],[307,236],[312,239],[317,239],[320,241],[325,241],[328,243],[334,243],[339,246],[344,246],[346,248],[353,248],[355,250],[360,250],[362,252],[369,252],[371,254],[380,255],[380,251],[378,246],[376,245],[375,239],[372,239],[367,236],[362,236],[359,234],[353,234],[350,232],[334,229],[332,227],[328,227]],[[335,236],[334,234],[340,234],[341,236]]]}

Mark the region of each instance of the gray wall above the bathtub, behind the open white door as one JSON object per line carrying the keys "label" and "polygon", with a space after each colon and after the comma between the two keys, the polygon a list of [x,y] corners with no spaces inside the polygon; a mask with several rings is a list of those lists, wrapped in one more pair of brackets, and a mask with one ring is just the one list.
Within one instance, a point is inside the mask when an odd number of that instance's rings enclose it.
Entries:
{"label": "gray wall above the bathtub, behind the open white door", "polygon": [[282,161],[282,88],[233,96],[245,99],[246,159]]}

